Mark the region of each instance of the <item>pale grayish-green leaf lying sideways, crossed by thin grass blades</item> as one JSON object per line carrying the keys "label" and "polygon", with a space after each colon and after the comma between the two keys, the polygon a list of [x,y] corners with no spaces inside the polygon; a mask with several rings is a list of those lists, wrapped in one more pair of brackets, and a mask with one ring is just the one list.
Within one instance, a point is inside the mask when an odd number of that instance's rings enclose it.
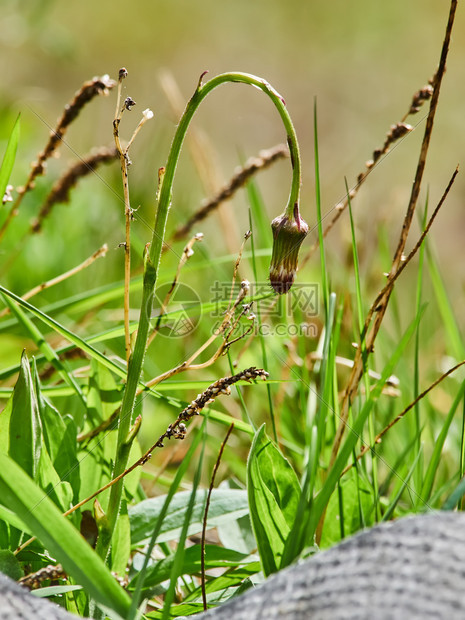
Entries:
{"label": "pale grayish-green leaf lying sideways, crossed by thin grass blades", "polygon": [[[173,496],[168,514],[163,520],[157,542],[177,539],[184,522],[189,497],[189,491],[182,491]],[[207,491],[205,489],[197,491],[194,510],[188,529],[188,536],[198,534],[202,531],[206,498]],[[150,538],[158,515],[163,508],[165,499],[165,495],[151,497],[129,508],[131,543],[133,546],[140,545]],[[210,508],[208,510],[207,526],[212,528],[216,527],[219,523],[238,519],[246,515],[248,511],[246,491],[213,489]]]}

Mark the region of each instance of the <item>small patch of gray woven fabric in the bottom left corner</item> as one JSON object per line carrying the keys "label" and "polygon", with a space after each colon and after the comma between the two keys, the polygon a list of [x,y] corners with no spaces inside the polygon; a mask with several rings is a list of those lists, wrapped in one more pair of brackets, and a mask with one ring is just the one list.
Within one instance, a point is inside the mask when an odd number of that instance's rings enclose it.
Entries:
{"label": "small patch of gray woven fabric in the bottom left corner", "polygon": [[0,620],[76,620],[58,605],[32,596],[0,573]]}

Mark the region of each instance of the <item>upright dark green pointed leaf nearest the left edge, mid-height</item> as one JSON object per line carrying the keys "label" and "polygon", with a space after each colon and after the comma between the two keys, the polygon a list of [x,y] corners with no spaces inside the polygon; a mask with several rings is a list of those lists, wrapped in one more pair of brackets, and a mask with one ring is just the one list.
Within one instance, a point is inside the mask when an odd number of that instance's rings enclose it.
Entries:
{"label": "upright dark green pointed leaf nearest the left edge, mid-height", "polygon": [[39,409],[26,354],[21,356],[21,371],[13,393],[9,427],[10,457],[35,478],[40,459],[42,433]]}

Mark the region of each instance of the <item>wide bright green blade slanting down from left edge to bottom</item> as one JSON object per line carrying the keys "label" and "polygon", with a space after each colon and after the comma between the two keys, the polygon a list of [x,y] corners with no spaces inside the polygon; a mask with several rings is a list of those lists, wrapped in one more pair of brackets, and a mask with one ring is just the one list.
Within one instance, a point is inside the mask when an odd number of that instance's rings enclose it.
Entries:
{"label": "wide bright green blade slanting down from left edge to bottom", "polygon": [[126,616],[129,597],[102,559],[44,492],[4,454],[0,454],[0,501],[27,524],[49,553],[98,604]]}

